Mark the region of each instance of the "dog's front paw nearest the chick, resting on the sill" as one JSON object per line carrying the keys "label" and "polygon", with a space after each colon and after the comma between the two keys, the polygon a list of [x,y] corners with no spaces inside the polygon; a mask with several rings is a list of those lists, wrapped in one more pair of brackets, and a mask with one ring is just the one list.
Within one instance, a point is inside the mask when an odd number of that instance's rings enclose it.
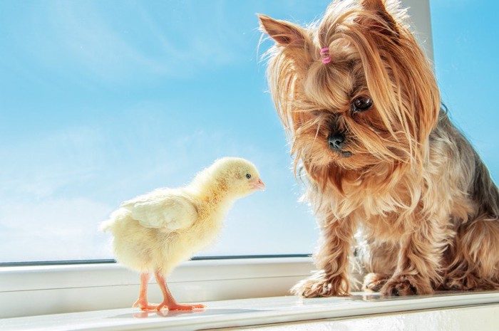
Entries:
{"label": "dog's front paw nearest the chick, resting on the sill", "polygon": [[348,280],[341,276],[328,280],[323,274],[316,274],[294,285],[291,293],[304,298],[345,296],[349,295]]}

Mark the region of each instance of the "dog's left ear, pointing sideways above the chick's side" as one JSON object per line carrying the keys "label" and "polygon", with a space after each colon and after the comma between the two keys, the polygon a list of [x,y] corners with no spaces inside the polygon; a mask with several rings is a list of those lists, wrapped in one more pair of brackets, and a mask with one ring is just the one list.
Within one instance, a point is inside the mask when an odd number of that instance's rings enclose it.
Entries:
{"label": "dog's left ear, pointing sideways above the chick's side", "polygon": [[258,18],[261,30],[274,39],[278,45],[304,47],[306,36],[304,30],[299,26],[287,21],[272,19],[272,17],[263,14],[259,14]]}

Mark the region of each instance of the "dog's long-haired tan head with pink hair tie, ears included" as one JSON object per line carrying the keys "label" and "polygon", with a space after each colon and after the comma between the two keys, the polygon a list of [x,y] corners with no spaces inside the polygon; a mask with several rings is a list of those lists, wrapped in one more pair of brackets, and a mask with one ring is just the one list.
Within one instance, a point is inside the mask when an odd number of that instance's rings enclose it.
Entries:
{"label": "dog's long-haired tan head with pink hair tie, ears included", "polygon": [[397,1],[334,1],[307,28],[259,19],[275,41],[272,97],[295,160],[312,177],[423,164],[440,96]]}

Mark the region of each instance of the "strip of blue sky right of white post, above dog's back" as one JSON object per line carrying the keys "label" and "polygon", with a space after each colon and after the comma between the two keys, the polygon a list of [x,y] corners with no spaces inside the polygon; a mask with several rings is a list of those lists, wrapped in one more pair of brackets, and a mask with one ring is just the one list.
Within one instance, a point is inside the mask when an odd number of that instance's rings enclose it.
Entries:
{"label": "strip of blue sky right of white post, above dog's back", "polygon": [[433,52],[442,101],[453,122],[499,178],[498,1],[431,0]]}

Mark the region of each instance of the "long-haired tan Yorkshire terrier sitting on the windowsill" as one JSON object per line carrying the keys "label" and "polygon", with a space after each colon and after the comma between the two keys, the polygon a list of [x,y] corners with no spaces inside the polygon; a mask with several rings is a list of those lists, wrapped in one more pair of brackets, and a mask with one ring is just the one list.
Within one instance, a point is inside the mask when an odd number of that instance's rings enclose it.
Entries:
{"label": "long-haired tan Yorkshire terrier sitting on the windowsill", "polygon": [[396,0],[337,0],[306,28],[259,16],[272,98],[321,230],[292,288],[347,295],[349,261],[383,295],[499,288],[499,191],[441,105]]}

